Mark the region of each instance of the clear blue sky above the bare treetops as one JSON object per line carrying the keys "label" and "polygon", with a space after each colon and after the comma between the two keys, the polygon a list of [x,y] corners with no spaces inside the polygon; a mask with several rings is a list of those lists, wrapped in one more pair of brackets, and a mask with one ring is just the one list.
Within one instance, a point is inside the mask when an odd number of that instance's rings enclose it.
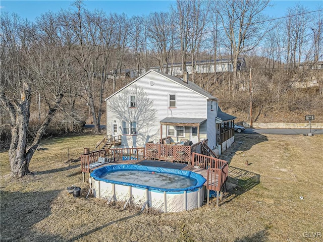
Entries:
{"label": "clear blue sky above the bare treetops", "polygon": [[[6,1],[2,0],[1,12],[17,13],[21,18],[34,21],[36,17],[46,12],[56,13],[60,9],[71,7],[74,1]],[[151,12],[167,12],[175,1],[84,1],[89,10],[99,9],[105,13],[125,13],[129,17],[148,15]],[[323,9],[323,1],[272,1],[273,8],[265,13],[268,16],[277,18],[286,14],[287,8],[296,3],[307,7],[309,11],[316,10],[317,6]]]}

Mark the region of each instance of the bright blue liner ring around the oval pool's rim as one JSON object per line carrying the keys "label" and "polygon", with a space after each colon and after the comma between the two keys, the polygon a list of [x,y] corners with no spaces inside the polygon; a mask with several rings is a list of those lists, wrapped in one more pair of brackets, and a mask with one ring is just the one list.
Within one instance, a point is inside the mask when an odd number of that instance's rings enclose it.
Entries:
{"label": "bright blue liner ring around the oval pool's rim", "polygon": [[[163,172],[163,173],[170,173],[170,174],[178,174],[187,177],[191,177],[196,179],[197,183],[195,186],[187,187],[187,188],[171,188],[171,189],[164,189],[164,188],[156,188],[156,187],[149,187],[144,185],[137,185],[132,183],[125,183],[122,181],[116,180],[109,180],[101,178],[102,175],[105,175],[107,172],[119,171],[119,170],[142,170],[142,171],[154,171],[154,172]],[[95,169],[91,172],[91,177],[95,180],[105,181],[106,183],[113,183],[118,185],[124,186],[132,186],[137,188],[149,189],[149,190],[157,190],[160,192],[183,192],[183,191],[195,191],[196,189],[203,186],[206,179],[195,172],[189,170],[178,170],[178,169],[169,169],[163,167],[153,167],[153,166],[144,166],[144,165],[108,165],[103,166],[101,168]]]}

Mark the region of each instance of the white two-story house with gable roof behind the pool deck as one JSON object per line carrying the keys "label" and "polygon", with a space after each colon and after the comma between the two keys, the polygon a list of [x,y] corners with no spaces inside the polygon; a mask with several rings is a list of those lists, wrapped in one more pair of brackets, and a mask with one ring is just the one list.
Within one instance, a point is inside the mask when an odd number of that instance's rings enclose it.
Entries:
{"label": "white two-story house with gable roof behind the pool deck", "polygon": [[106,135],[121,135],[121,147],[169,136],[217,148],[218,99],[193,82],[150,70],[105,101]]}

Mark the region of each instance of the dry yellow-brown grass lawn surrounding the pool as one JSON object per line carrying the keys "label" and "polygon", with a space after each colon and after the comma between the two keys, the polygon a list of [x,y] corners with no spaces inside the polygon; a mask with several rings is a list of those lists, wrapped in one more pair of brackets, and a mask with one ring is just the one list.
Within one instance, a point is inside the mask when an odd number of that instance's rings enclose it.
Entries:
{"label": "dry yellow-brown grass lawn surrounding the pool", "polygon": [[[1,153],[2,241],[308,241],[303,232],[323,233],[323,136],[239,134],[221,157],[230,161],[221,207],[167,214],[85,199],[78,158],[99,139],[42,142],[47,150],[36,152],[34,175],[23,179],[10,177]],[[61,161],[67,149],[72,162]],[[71,185],[82,188],[81,198],[67,193]]]}

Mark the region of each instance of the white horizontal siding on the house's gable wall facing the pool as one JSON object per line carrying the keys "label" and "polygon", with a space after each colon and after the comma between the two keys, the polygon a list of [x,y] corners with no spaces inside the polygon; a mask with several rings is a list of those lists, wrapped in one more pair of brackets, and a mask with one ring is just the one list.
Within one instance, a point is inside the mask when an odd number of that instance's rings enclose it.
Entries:
{"label": "white horizontal siding on the house's gable wall facing the pool", "polygon": [[[153,85],[150,84],[151,81]],[[136,94],[136,108],[129,108],[130,94]],[[169,94],[176,94],[176,108],[168,107]],[[127,121],[130,124],[135,121],[137,135],[123,135],[122,146],[144,146],[147,142],[160,139],[159,122],[165,117],[207,118],[206,103],[206,97],[150,72],[106,100],[106,132],[112,134],[112,124],[116,120],[119,124],[119,135],[122,135],[122,122]],[[166,126],[163,126],[163,138],[167,136],[166,130]]]}

